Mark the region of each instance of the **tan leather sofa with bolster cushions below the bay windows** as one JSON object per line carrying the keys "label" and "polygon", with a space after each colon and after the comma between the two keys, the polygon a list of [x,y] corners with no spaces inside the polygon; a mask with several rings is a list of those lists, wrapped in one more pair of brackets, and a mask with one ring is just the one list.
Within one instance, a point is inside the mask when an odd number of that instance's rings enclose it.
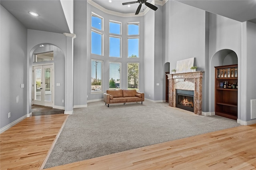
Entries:
{"label": "tan leather sofa with bolster cushions below the bay windows", "polygon": [[103,95],[105,105],[113,103],[130,103],[130,102],[142,102],[144,101],[144,93],[133,90],[107,90]]}

